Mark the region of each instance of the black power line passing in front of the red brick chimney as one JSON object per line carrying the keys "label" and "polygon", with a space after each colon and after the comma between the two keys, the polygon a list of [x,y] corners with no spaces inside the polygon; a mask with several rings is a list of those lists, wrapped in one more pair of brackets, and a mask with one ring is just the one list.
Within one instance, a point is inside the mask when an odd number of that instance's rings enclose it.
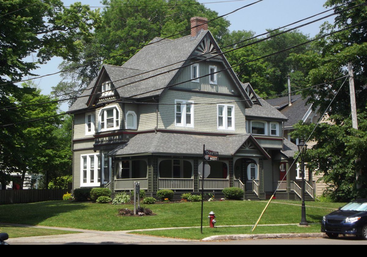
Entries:
{"label": "black power line passing in front of the red brick chimney", "polygon": [[38,77],[33,77],[33,78],[30,78],[30,79],[19,80],[19,81],[16,81],[16,82],[9,82],[9,83],[0,84],[0,86],[4,86],[4,85],[8,85],[8,84],[14,84],[14,83],[19,83],[19,82],[25,82],[25,81],[29,81],[29,80],[33,80],[33,79],[40,79],[40,78],[42,78],[42,77],[47,77],[47,76],[51,76],[51,75],[56,75],[56,74],[59,74],[59,73],[61,73],[61,72],[67,72],[67,71],[70,71],[70,70],[73,70],[73,69],[86,67],[86,66],[89,66],[89,65],[94,64],[94,63],[99,63],[99,62],[105,61],[105,60],[110,59],[110,58],[114,58],[114,57],[117,57],[117,56],[120,56],[120,55],[123,55],[123,54],[126,54],[126,53],[130,53],[130,52],[132,52],[132,51],[139,50],[139,49],[141,49],[141,48],[143,48],[143,47],[145,47],[145,46],[149,46],[149,45],[151,45],[151,44],[158,43],[158,42],[160,42],[160,41],[162,41],[162,40],[165,40],[165,39],[168,39],[168,38],[170,38],[170,37],[180,35],[180,34],[182,34],[182,33],[186,32],[186,31],[188,31],[188,30],[191,30],[191,29],[193,29],[193,28],[197,28],[197,27],[199,27],[199,26],[201,26],[201,25],[207,24],[207,23],[212,22],[212,21],[214,21],[214,20],[216,20],[216,19],[222,18],[222,17],[227,16],[227,15],[229,15],[229,14],[232,14],[232,13],[234,13],[234,12],[236,12],[236,11],[239,11],[239,10],[241,10],[241,9],[243,9],[243,8],[246,8],[246,7],[252,6],[253,4],[259,3],[259,2],[261,2],[261,1],[263,1],[263,0],[258,0],[258,1],[254,2],[254,3],[247,4],[246,6],[242,6],[242,7],[240,7],[240,8],[237,8],[237,9],[236,9],[236,10],[234,10],[234,11],[228,12],[227,14],[224,14],[224,15],[218,16],[218,17],[216,17],[216,18],[214,18],[214,19],[211,19],[211,20],[209,20],[209,21],[206,21],[206,22],[204,22],[204,23],[201,23],[200,25],[193,26],[193,27],[191,27],[191,28],[189,28],[189,29],[185,29],[185,30],[183,30],[183,31],[181,31],[181,32],[178,32],[178,33],[175,33],[175,34],[173,34],[173,35],[170,35],[170,36],[164,37],[164,38],[162,38],[162,39],[160,39],[160,40],[157,40],[157,41],[154,41],[154,42],[151,42],[151,43],[145,44],[144,46],[140,46],[140,47],[137,47],[137,48],[134,48],[134,49],[130,49],[130,50],[124,51],[124,52],[123,52],[123,53],[121,53],[121,54],[112,55],[112,56],[110,56],[110,57],[106,57],[106,58],[103,58],[103,59],[98,60],[98,61],[92,61],[92,62],[90,62],[89,64],[84,64],[84,65],[75,66],[75,67],[73,67],[73,68],[69,68],[69,69],[65,69],[65,70],[59,70],[58,72],[50,73],[50,74],[47,74],[47,75],[42,75],[42,76],[38,76]]}

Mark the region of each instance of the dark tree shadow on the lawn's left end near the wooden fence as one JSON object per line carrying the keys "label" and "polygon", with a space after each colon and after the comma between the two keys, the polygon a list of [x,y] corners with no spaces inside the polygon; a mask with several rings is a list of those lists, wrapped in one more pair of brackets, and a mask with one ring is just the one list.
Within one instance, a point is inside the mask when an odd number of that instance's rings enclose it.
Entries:
{"label": "dark tree shadow on the lawn's left end near the wooden fence", "polygon": [[10,224],[38,225],[61,213],[86,209],[80,202],[48,201],[38,203],[6,204],[0,206],[0,222]]}

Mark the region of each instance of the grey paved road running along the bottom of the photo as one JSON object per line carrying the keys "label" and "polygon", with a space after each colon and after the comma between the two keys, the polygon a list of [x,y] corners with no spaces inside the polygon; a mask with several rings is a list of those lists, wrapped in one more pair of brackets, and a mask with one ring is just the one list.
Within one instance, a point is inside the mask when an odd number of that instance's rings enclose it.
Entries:
{"label": "grey paved road running along the bottom of the photo", "polygon": [[[84,234],[84,233],[83,233]],[[114,239],[116,240],[116,238]],[[184,241],[178,239],[164,239],[155,237],[141,237],[137,242],[90,242],[90,243],[75,243],[75,242],[7,242],[12,245],[367,245],[367,240],[357,240],[354,237],[329,239],[329,238],[292,238],[292,239],[247,239],[247,240],[230,240],[216,242],[201,242],[201,241]]]}

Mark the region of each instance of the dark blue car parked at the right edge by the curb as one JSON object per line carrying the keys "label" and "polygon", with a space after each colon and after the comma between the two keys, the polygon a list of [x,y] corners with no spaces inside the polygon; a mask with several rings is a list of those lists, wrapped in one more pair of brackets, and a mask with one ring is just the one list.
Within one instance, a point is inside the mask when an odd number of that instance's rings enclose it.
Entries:
{"label": "dark blue car parked at the right edge by the curb", "polygon": [[356,235],[367,240],[367,199],[354,200],[324,216],[321,232],[330,238],[342,234]]}

